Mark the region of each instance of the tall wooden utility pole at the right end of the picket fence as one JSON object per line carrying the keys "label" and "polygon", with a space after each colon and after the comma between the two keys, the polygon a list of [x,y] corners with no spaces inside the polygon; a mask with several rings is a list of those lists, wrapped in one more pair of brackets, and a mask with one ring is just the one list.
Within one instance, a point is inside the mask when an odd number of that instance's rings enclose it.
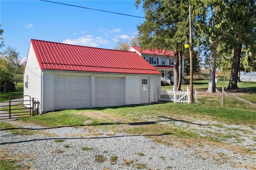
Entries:
{"label": "tall wooden utility pole at the right end of the picket fence", "polygon": [[190,45],[190,103],[194,102],[193,91],[193,56],[192,56],[192,22],[191,22],[191,6],[189,6],[189,45]]}

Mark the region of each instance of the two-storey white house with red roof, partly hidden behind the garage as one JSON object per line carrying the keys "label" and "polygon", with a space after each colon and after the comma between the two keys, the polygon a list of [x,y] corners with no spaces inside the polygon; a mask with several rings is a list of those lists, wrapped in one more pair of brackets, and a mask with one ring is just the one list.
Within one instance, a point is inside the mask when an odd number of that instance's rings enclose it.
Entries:
{"label": "two-storey white house with red roof, partly hidden behind the garage", "polygon": [[[156,70],[161,72],[161,80],[173,82],[174,80],[174,52],[167,50],[144,50],[141,47],[131,46],[129,51],[135,51],[150,63]],[[182,77],[184,77],[184,57],[182,57]]]}

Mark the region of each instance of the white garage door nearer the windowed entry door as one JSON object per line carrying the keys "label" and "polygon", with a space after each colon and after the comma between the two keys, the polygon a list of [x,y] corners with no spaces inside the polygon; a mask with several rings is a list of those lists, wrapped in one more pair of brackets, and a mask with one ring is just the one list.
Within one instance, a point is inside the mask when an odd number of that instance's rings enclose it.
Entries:
{"label": "white garage door nearer the windowed entry door", "polygon": [[96,107],[124,105],[123,77],[95,77]]}

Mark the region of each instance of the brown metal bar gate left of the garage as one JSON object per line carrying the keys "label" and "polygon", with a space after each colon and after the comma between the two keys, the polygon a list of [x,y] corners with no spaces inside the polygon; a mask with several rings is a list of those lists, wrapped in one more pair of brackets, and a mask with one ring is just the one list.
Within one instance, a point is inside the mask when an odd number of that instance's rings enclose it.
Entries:
{"label": "brown metal bar gate left of the garage", "polygon": [[24,96],[4,96],[1,98],[7,98],[6,101],[0,102],[0,119],[16,119],[20,117],[31,116],[31,102],[24,105],[24,102],[31,101],[30,96],[26,96],[29,100],[24,100]]}

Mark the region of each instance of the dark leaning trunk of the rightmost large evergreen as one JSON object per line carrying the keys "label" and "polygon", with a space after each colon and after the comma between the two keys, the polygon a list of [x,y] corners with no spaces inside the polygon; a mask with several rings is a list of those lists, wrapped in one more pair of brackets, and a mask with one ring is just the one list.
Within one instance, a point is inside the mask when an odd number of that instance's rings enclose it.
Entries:
{"label": "dark leaning trunk of the rightmost large evergreen", "polygon": [[242,51],[242,42],[239,43],[236,49],[234,49],[233,63],[230,72],[230,79],[227,89],[238,89],[238,70],[240,66],[240,56]]}

